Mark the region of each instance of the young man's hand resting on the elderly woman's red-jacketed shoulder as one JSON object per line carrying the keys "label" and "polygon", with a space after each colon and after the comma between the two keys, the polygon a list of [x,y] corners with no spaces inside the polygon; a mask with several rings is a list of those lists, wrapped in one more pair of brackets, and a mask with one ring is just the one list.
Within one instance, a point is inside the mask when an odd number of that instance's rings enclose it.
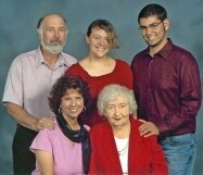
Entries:
{"label": "young man's hand resting on the elderly woman's red-jacketed shoulder", "polygon": [[143,120],[139,120],[140,122],[143,122],[143,124],[139,127],[140,135],[143,137],[149,137],[152,135],[158,135],[158,128],[152,123],[147,122]]}

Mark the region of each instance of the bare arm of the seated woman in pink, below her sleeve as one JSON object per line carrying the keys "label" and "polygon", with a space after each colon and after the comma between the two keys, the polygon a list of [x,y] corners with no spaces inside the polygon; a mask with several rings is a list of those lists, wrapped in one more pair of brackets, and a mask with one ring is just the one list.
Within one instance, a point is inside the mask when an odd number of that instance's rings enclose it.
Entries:
{"label": "bare arm of the seated woman in pink, below her sleeve", "polygon": [[53,175],[53,157],[51,153],[35,150],[36,161],[41,175]]}

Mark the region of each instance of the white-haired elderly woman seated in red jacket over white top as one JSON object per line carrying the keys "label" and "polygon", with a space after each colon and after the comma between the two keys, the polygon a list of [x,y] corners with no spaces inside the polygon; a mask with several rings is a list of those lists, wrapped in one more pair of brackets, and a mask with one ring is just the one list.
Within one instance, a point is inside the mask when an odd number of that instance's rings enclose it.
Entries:
{"label": "white-haired elderly woman seated in red jacket over white top", "polygon": [[156,137],[139,134],[141,122],[132,118],[137,103],[131,90],[105,86],[98,98],[98,110],[107,121],[90,130],[89,174],[167,175],[167,165]]}

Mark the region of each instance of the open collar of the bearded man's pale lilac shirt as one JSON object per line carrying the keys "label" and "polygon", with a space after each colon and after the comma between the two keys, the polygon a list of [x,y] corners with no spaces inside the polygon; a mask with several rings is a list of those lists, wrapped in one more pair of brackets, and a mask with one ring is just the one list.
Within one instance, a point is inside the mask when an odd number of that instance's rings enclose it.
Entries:
{"label": "open collar of the bearded man's pale lilac shirt", "polygon": [[[36,60],[36,63],[35,63],[36,67],[38,67],[38,66],[40,66],[41,64],[45,64],[45,63],[47,64],[47,61],[43,58],[43,54],[41,52],[40,47],[37,48],[37,50],[36,50],[35,60]],[[56,66],[61,66],[61,65],[67,66],[66,61],[63,57],[63,52],[60,53],[60,57],[59,57],[58,62],[56,62]]]}

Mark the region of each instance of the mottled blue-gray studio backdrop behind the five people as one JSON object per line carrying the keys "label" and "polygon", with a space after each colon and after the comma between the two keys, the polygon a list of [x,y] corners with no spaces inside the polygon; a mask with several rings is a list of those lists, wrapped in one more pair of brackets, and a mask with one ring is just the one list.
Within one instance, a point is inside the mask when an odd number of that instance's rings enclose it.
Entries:
{"label": "mottled blue-gray studio backdrop behind the five people", "polygon": [[[38,47],[36,24],[46,13],[60,13],[68,22],[69,35],[65,52],[78,60],[86,55],[84,40],[89,23],[106,18],[115,26],[122,48],[113,54],[130,63],[135,53],[145,48],[138,30],[137,15],[147,3],[161,3],[170,18],[173,41],[196,58],[202,78],[203,67],[203,1],[202,0],[0,0],[0,98],[12,60]],[[198,116],[199,149],[193,175],[203,175],[203,109]],[[12,175],[12,138],[15,122],[0,105],[0,175]],[[20,160],[21,161],[21,160]]]}

